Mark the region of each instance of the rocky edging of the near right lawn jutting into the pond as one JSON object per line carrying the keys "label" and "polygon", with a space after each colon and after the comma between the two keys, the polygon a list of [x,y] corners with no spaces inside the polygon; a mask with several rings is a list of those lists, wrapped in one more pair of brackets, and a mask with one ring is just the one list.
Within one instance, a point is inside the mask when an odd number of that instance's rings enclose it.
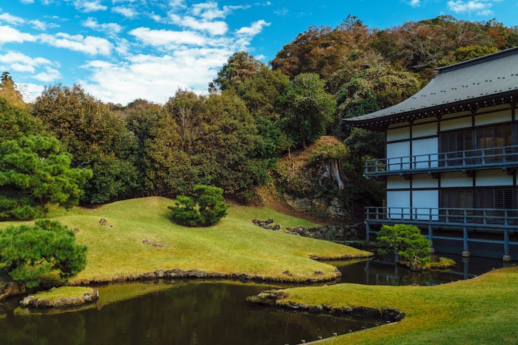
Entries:
{"label": "rocky edging of the near right lawn jutting into the pond", "polygon": [[267,290],[247,297],[247,302],[277,306],[292,311],[308,311],[309,313],[328,313],[334,315],[364,317],[369,319],[383,319],[389,322],[398,322],[405,317],[405,313],[394,308],[374,308],[368,306],[328,306],[326,304],[310,305],[288,301],[289,295],[282,290]]}

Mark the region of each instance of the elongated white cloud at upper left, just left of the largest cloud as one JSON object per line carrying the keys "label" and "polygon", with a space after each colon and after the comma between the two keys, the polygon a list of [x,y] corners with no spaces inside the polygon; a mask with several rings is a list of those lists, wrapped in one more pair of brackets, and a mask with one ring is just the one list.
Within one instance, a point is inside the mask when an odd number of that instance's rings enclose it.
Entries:
{"label": "elongated white cloud at upper left, just left of the largest cloud", "polygon": [[87,55],[111,55],[113,44],[107,39],[94,36],[83,37],[81,34],[70,35],[59,32],[55,35],[40,34],[41,42],[57,48],[66,48]]}

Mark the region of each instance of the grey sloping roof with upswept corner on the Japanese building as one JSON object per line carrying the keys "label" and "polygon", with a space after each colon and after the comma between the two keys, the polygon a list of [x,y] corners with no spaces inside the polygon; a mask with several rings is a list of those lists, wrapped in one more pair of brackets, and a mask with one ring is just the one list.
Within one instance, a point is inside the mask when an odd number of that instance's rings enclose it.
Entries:
{"label": "grey sloping roof with upswept corner on the Japanese building", "polygon": [[383,128],[390,123],[438,115],[448,108],[450,110],[447,112],[452,112],[452,106],[468,106],[502,97],[508,101],[508,97],[516,99],[517,95],[518,47],[437,68],[434,79],[409,99],[383,110],[344,120],[352,126]]}

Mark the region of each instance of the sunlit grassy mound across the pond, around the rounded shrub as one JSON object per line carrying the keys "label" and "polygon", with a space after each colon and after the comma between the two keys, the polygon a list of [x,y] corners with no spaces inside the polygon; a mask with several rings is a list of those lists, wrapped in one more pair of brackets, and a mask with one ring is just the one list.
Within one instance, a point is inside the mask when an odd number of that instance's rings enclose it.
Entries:
{"label": "sunlit grassy mound across the pond, around the rounded shrub", "polygon": [[[95,209],[52,211],[52,219],[79,229],[77,241],[88,246],[88,264],[72,283],[107,281],[118,275],[173,268],[247,273],[294,281],[332,279],[336,276],[334,266],[311,260],[310,255],[365,257],[370,254],[331,242],[265,230],[251,223],[253,218],[273,218],[282,228],[313,225],[269,208],[234,206],[215,226],[186,228],[170,220],[167,206],[171,204],[170,199],[147,197]],[[106,226],[99,224],[102,218],[106,219]],[[3,222],[0,227],[20,223]],[[144,244],[144,240],[151,243]],[[286,270],[291,275],[285,275]]]}

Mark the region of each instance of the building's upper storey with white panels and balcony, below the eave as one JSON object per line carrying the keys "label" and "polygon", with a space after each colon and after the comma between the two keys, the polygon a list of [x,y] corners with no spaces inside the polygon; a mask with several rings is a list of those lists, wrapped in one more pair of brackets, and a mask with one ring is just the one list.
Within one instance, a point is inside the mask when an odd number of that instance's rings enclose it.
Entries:
{"label": "building's upper storey with white panels and balcony, below the eave", "polygon": [[515,105],[452,112],[391,124],[386,130],[385,158],[365,162],[366,177],[518,167],[518,122]]}

